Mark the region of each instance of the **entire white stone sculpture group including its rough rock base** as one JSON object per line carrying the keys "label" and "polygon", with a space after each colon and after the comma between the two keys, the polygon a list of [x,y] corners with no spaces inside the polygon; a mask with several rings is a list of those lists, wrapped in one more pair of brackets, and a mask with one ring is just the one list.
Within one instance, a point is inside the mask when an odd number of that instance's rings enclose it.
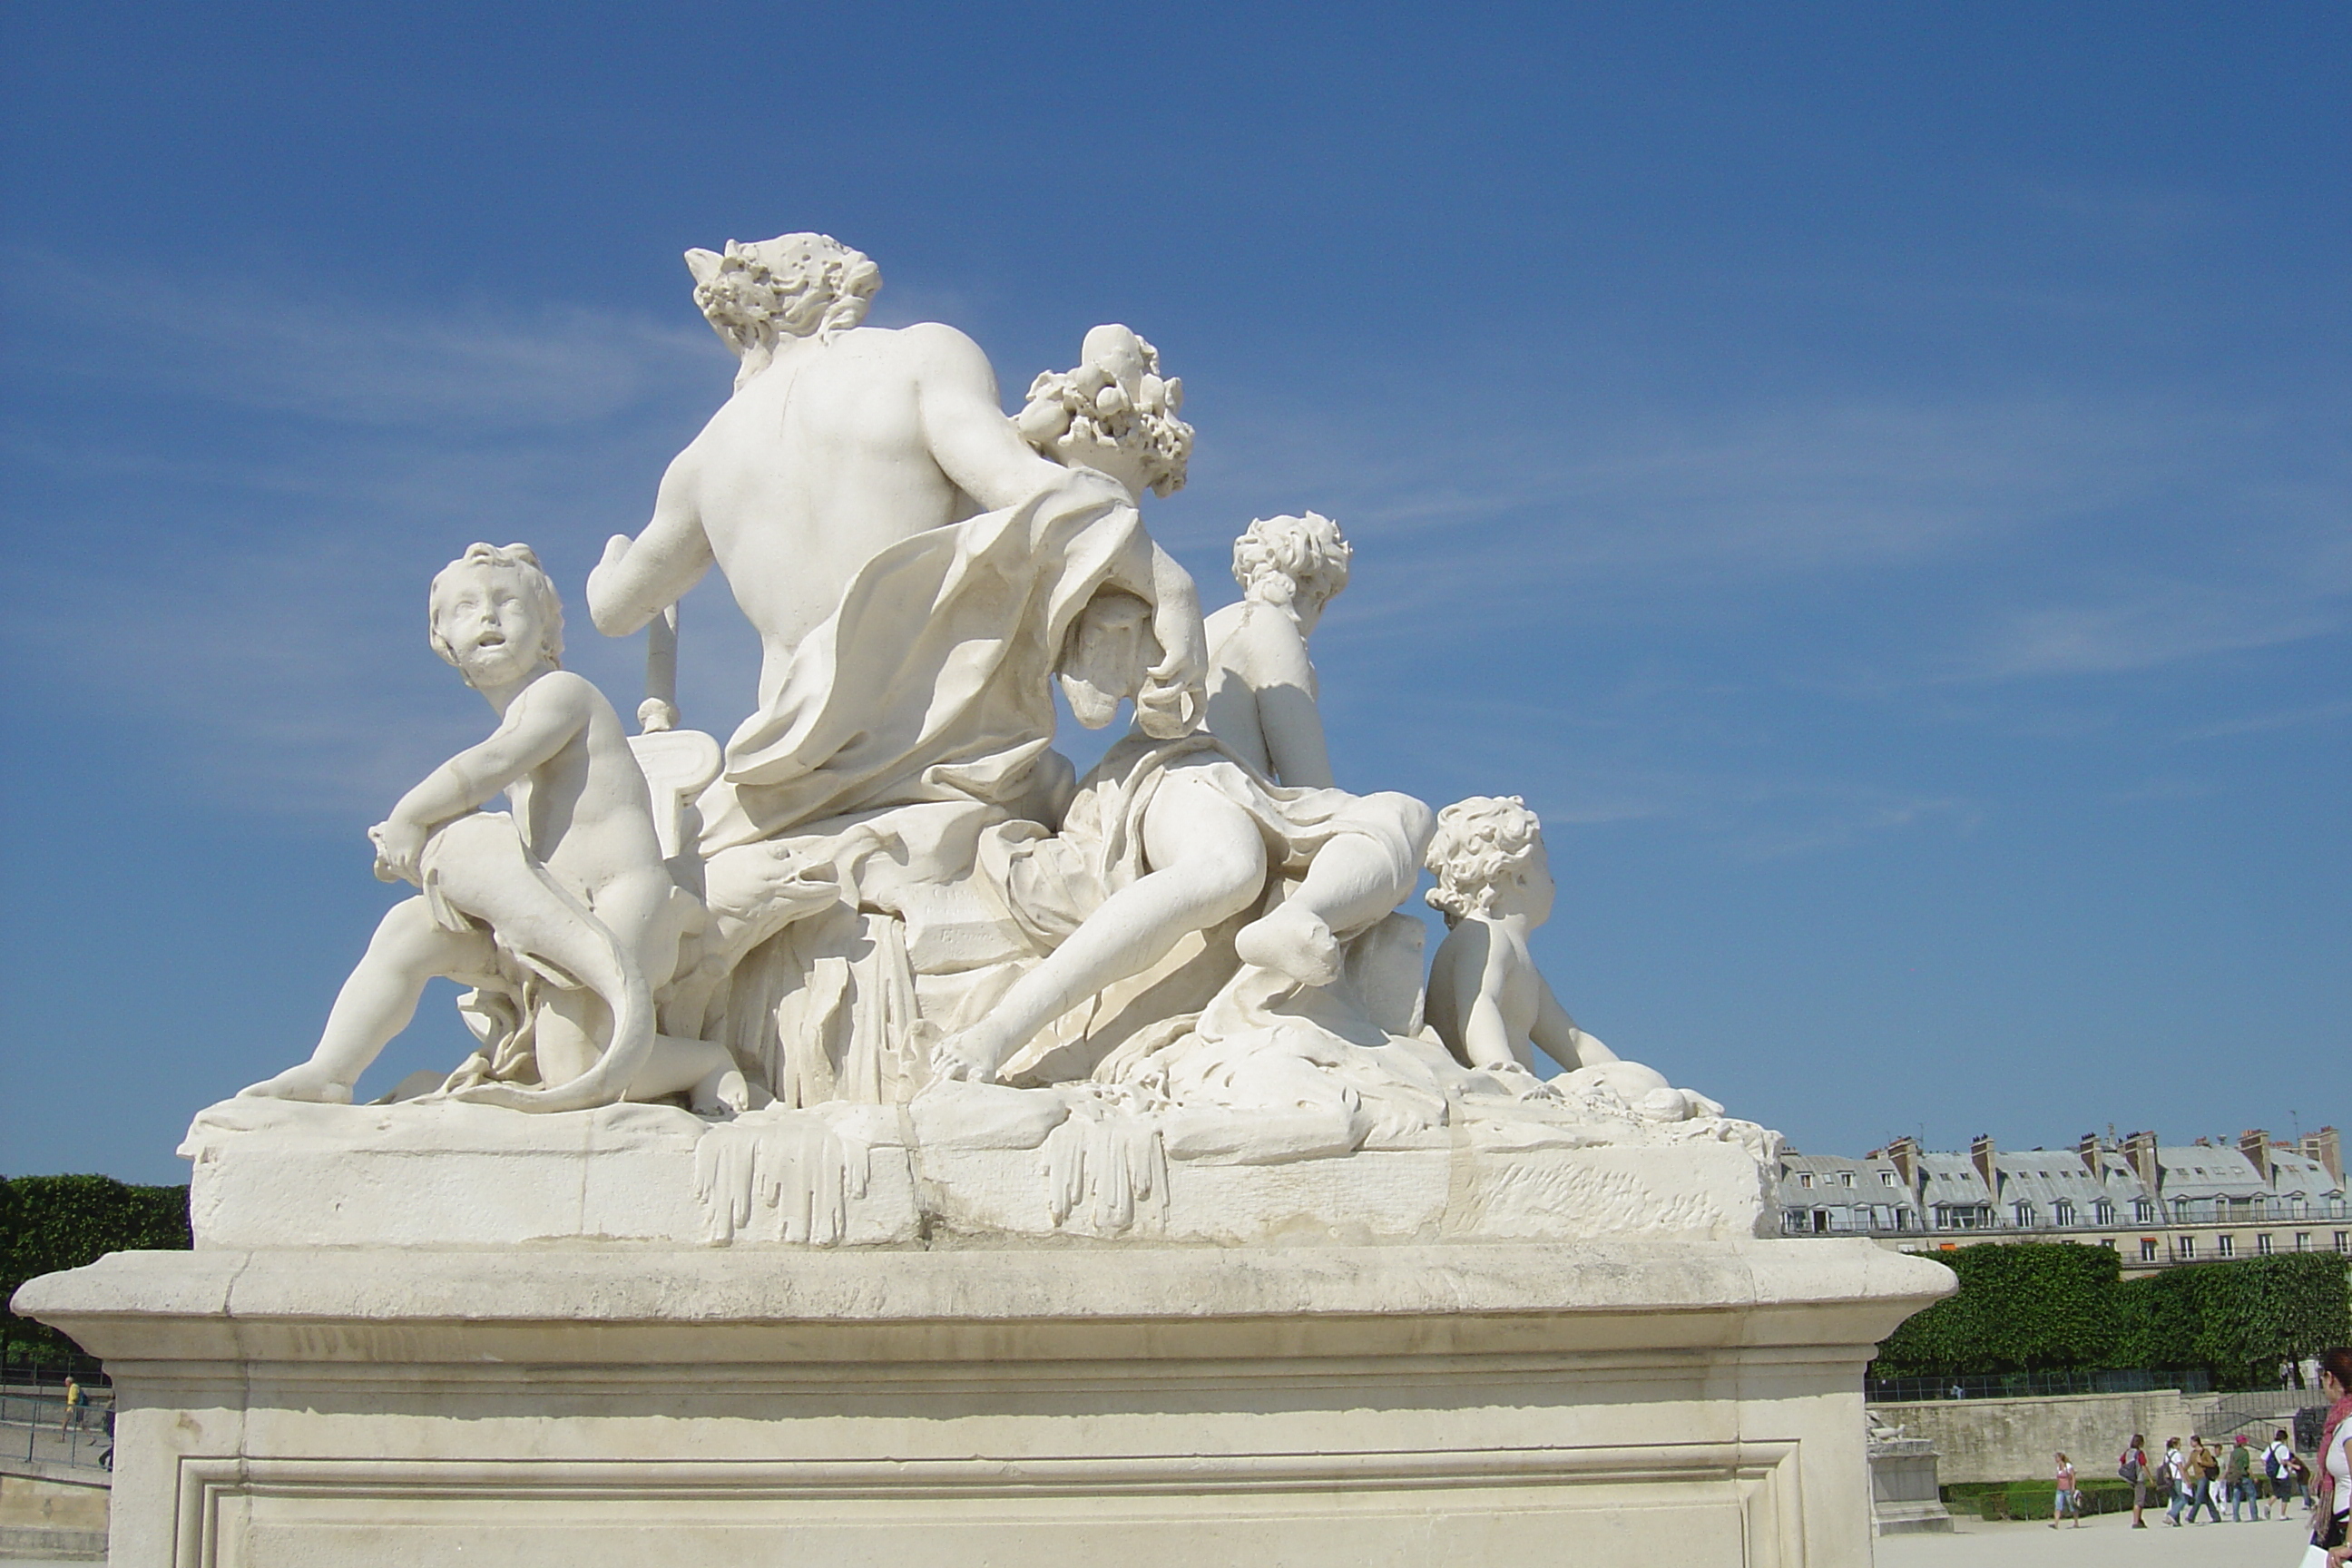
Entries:
{"label": "entire white stone sculpture group including its rough rock base", "polygon": [[[379,875],[421,896],[313,1058],[191,1128],[200,1229],[310,1222],[278,1135],[308,1171],[360,1140],[466,1190],[548,1161],[475,1239],[1752,1225],[1771,1135],[1616,1060],[1536,971],[1536,816],[1338,788],[1310,658],[1338,524],[1251,522],[1242,599],[1202,621],[1141,515],[1195,440],[1157,348],[1094,327],[1007,416],[960,331],[861,324],[880,275],[835,240],[687,261],[741,371],[588,578],[600,630],[652,625],[647,733],[560,670],[529,550],[435,578],[433,644],[499,731],[374,830]],[[724,745],[675,701],[675,602],[713,564],[764,649]],[[1056,684],[1091,729],[1131,705],[1084,778]],[[1451,924],[1428,985],[1399,912],[1423,865]],[[473,987],[482,1051],[343,1105],[433,976]],[[1207,1175],[1331,1159],[1376,1175]],[[334,1225],[416,1222],[367,1182]]]}

